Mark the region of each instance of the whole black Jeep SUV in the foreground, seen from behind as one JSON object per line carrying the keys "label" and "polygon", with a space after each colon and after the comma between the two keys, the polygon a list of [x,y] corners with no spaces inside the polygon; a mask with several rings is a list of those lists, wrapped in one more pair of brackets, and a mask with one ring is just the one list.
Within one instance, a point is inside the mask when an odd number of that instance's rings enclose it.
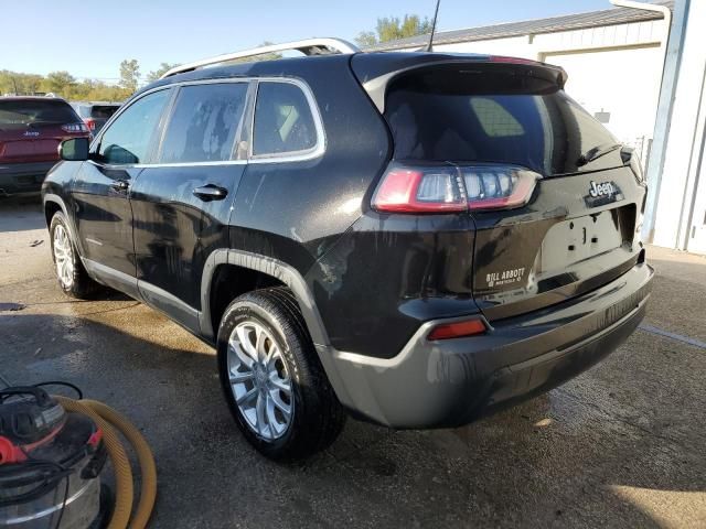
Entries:
{"label": "whole black Jeep SUV in the foreground, seen from behind", "polygon": [[317,56],[181,66],[64,143],[43,193],[67,294],[113,287],[216,347],[235,421],[279,458],[345,411],[467,424],[633,332],[645,184],[563,69],[290,47]]}

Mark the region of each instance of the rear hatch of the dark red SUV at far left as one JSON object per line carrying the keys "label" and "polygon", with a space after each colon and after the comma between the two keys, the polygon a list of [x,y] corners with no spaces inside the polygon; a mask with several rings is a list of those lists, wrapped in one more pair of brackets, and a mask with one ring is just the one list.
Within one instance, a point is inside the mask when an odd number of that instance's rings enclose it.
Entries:
{"label": "rear hatch of the dark red SUV at far left", "polygon": [[64,100],[0,98],[0,162],[56,161],[64,139],[86,137],[87,131]]}

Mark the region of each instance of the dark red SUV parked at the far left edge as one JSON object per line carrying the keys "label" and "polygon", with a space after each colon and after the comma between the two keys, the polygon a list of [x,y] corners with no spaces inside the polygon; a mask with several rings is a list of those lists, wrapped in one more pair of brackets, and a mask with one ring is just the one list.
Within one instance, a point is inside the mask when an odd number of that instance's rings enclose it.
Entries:
{"label": "dark red SUV parked at the far left edge", "polygon": [[58,161],[58,144],[88,137],[86,125],[63,99],[0,97],[0,196],[39,193]]}

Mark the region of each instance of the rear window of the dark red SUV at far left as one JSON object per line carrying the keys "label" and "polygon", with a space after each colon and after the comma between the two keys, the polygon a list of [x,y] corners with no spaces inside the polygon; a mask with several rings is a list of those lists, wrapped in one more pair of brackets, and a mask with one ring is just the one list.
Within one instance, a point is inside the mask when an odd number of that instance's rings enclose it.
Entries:
{"label": "rear window of the dark red SUV at far left", "polygon": [[71,106],[55,99],[0,99],[0,128],[32,125],[75,123],[78,118]]}

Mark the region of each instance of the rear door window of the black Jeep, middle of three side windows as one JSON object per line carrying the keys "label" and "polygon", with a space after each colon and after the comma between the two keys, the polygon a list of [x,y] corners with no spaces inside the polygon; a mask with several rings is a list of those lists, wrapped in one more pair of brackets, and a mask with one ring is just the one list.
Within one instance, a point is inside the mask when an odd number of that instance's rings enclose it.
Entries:
{"label": "rear door window of the black Jeep, middle of three side windows", "polygon": [[160,163],[231,160],[247,83],[184,86],[167,126]]}

